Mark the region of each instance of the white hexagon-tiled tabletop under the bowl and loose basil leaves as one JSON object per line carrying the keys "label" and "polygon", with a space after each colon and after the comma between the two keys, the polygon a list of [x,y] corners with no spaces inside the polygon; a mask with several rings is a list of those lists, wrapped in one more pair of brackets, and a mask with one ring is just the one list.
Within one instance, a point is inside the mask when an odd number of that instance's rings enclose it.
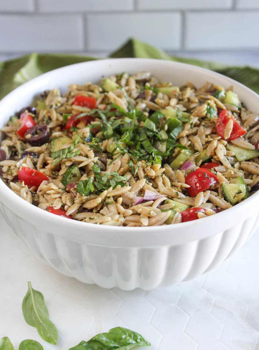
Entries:
{"label": "white hexagon-tiled tabletop under the bowl and loose basil leaves", "polygon": [[[193,281],[154,290],[85,285],[44,265],[0,216],[0,338],[18,349],[23,339],[44,350],[68,350],[121,326],[142,334],[150,350],[259,350],[259,231],[221,266]],[[40,290],[59,330],[44,342],[22,316],[27,281]]]}

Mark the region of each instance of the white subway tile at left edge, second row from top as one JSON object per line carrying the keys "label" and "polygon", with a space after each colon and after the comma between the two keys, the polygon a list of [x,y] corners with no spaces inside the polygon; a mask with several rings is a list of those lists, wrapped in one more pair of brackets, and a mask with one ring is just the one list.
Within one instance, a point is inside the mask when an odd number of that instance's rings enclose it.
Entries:
{"label": "white subway tile at left edge, second row from top", "polygon": [[83,49],[79,15],[0,15],[2,52]]}

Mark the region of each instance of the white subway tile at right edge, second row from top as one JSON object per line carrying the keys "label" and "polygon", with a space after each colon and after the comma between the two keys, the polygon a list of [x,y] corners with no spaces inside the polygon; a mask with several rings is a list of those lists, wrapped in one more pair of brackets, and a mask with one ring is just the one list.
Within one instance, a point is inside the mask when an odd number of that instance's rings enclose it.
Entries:
{"label": "white subway tile at right edge, second row from top", "polygon": [[186,49],[258,48],[258,12],[201,12],[186,15]]}

